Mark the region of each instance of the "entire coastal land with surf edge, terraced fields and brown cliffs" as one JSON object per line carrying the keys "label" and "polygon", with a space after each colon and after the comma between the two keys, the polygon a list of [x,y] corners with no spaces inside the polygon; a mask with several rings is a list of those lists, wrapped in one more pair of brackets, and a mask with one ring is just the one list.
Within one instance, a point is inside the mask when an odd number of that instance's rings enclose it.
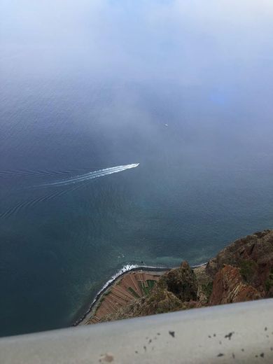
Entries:
{"label": "entire coastal land with surf edge, terraced fields and brown cliffs", "polygon": [[272,239],[273,230],[241,237],[200,265],[125,265],[73,325],[272,297]]}

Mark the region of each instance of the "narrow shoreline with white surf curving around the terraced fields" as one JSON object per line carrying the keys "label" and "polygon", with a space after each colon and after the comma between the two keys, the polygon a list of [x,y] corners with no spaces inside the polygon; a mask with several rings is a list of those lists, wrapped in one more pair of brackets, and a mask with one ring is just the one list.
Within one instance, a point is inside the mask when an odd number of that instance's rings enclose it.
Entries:
{"label": "narrow shoreline with white surf curving around the terraced fields", "polygon": [[[197,267],[202,267],[203,265],[206,265],[207,262],[204,262],[202,264],[199,265],[192,265],[191,268],[195,269]],[[174,268],[178,268],[177,266],[174,267],[155,267],[155,266],[148,266],[148,265],[125,265],[123,266],[122,269],[120,269],[116,274],[114,274],[111,279],[109,279],[104,286],[102,286],[102,288],[98,291],[98,293],[94,296],[94,299],[92,300],[92,303],[90,304],[90,307],[88,307],[87,311],[85,311],[85,313],[80,316],[80,318],[78,318],[78,320],[76,320],[74,323],[72,323],[71,326],[78,326],[81,323],[83,323],[83,321],[85,320],[85,318],[87,318],[88,315],[90,315],[92,309],[94,309],[94,307],[96,306],[97,302],[99,301],[99,299],[102,297],[102,295],[104,295],[104,293],[106,292],[106,290],[109,290],[109,288],[111,288],[111,286],[113,286],[114,283],[116,283],[116,281],[118,281],[118,279],[120,279],[122,276],[124,276],[125,274],[128,274],[130,272],[136,272],[136,271],[146,271],[146,272],[167,272],[171,269]]]}

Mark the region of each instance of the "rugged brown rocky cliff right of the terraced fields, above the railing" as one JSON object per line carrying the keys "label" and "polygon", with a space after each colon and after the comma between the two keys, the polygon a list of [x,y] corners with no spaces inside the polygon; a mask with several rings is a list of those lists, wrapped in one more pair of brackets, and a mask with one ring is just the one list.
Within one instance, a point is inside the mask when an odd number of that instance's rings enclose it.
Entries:
{"label": "rugged brown rocky cliff right of the terraced fields, above the railing", "polygon": [[273,230],[238,239],[202,267],[191,269],[183,262],[164,274],[148,297],[104,321],[262,297],[273,297]]}

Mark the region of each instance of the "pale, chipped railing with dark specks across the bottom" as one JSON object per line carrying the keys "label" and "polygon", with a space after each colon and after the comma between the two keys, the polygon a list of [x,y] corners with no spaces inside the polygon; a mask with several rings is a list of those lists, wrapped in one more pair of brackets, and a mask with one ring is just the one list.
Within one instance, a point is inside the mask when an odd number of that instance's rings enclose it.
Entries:
{"label": "pale, chipped railing with dark specks across the bottom", "polygon": [[0,363],[273,363],[273,299],[6,337]]}

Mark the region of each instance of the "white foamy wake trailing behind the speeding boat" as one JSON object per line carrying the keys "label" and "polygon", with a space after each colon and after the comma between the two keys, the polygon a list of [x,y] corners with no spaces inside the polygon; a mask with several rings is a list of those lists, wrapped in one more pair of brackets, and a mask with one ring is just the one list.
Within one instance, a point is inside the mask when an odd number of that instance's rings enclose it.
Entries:
{"label": "white foamy wake trailing behind the speeding boat", "polygon": [[109,174],[123,172],[126,169],[136,168],[138,166],[139,166],[139,163],[134,163],[132,165],[122,165],[122,166],[117,166],[117,167],[104,168],[104,169],[99,169],[98,171],[83,174],[81,176],[76,176],[71,179],[63,179],[62,181],[45,183],[45,184],[38,185],[38,186],[41,186],[41,187],[42,186],[67,186],[67,185],[71,185],[72,183],[83,182],[83,181],[87,181],[89,179],[97,179],[99,177],[107,176]]}

